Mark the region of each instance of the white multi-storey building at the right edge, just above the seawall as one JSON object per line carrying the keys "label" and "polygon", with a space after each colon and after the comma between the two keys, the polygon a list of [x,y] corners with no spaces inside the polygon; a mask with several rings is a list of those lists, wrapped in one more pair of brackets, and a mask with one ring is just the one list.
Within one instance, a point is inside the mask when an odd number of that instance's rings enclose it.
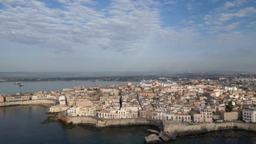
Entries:
{"label": "white multi-storey building at the right edge, just above the seawall", "polygon": [[242,110],[243,121],[256,122],[256,107],[245,107]]}

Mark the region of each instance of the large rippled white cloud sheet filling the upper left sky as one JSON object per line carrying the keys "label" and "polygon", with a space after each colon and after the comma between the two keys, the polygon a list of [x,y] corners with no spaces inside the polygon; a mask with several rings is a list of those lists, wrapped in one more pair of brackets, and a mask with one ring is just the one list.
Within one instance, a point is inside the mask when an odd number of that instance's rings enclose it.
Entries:
{"label": "large rippled white cloud sheet filling the upper left sky", "polygon": [[39,1],[1,9],[0,37],[54,51],[101,47],[134,53],[145,49],[144,41],[160,29],[154,1],[112,1],[106,12],[65,2],[64,9],[51,9]]}

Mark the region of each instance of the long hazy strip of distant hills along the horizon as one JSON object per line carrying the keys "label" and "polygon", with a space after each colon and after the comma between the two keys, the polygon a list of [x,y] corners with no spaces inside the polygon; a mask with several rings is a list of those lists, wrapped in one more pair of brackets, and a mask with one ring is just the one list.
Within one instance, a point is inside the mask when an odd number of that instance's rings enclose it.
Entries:
{"label": "long hazy strip of distant hills along the horizon", "polygon": [[183,72],[170,71],[103,71],[103,72],[0,72],[0,78],[50,78],[50,77],[100,77],[100,76],[136,76],[136,75],[173,75],[173,74],[242,74],[246,71],[230,71],[230,70],[189,70]]}

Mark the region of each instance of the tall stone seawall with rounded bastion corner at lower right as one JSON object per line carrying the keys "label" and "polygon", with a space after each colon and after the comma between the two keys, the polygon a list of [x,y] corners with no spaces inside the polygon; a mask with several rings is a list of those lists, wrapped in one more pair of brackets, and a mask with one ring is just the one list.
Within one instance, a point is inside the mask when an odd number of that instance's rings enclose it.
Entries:
{"label": "tall stone seawall with rounded bastion corner at lower right", "polygon": [[174,140],[177,135],[184,136],[190,134],[200,134],[209,131],[241,129],[256,131],[256,124],[245,122],[224,122],[224,123],[209,123],[209,124],[184,124],[184,125],[163,125],[162,135]]}

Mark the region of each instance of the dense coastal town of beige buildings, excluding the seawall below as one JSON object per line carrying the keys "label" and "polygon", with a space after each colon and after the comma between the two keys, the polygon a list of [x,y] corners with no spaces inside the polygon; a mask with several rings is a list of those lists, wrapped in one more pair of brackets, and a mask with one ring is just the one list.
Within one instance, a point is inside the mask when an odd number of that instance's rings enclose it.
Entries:
{"label": "dense coastal town of beige buildings, excluding the seawall below", "polygon": [[[143,80],[137,85],[75,86],[61,91],[0,95],[0,103],[55,100],[50,111],[103,119],[148,118],[167,123],[256,122],[255,79]],[[60,109],[65,107],[65,109]]]}

